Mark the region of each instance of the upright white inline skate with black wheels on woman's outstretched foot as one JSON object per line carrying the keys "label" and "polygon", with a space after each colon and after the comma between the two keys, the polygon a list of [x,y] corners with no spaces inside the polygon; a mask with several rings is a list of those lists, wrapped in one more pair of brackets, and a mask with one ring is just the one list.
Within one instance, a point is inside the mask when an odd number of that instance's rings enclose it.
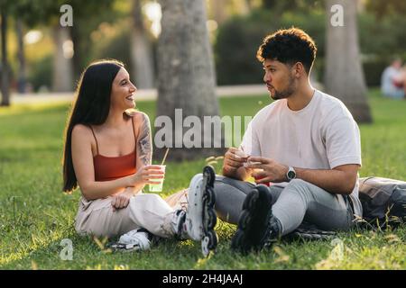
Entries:
{"label": "upright white inline skate with black wheels on woman's outstretched foot", "polygon": [[217,214],[214,209],[216,173],[212,166],[205,166],[203,174],[195,175],[189,185],[189,203],[184,229],[196,241],[201,241],[202,253],[208,256],[217,247]]}

